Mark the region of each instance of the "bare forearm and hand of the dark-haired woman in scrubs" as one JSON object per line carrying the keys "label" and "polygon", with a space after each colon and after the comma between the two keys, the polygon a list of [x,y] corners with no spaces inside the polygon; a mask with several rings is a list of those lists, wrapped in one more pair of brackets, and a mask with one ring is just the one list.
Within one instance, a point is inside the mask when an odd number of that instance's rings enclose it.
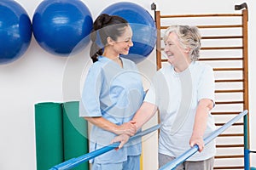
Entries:
{"label": "bare forearm and hand of the dark-haired woman in scrubs", "polygon": [[127,134],[129,136],[132,136],[136,133],[136,126],[135,122],[125,122],[122,125],[116,125],[113,122],[109,122],[107,119],[103,118],[102,116],[97,117],[84,117],[85,120],[88,122],[96,125],[97,127],[101,127],[104,130],[107,130],[109,132],[115,133],[115,134]]}

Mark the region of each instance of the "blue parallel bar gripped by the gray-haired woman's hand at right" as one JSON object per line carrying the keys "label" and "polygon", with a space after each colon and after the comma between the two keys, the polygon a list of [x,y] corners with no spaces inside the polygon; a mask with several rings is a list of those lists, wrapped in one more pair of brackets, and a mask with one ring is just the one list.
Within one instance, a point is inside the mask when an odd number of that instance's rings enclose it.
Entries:
{"label": "blue parallel bar gripped by the gray-haired woman's hand at right", "polygon": [[[242,116],[247,115],[247,110],[242,111],[239,115],[231,119],[229,122],[226,122],[224,126],[219,127],[217,130],[212,132],[207,138],[204,139],[205,145],[209,144],[212,139],[215,139],[220,133],[223,133],[228,127],[230,127],[232,124],[237,122],[239,119],[241,119]],[[177,156],[176,159],[166,163],[163,167],[160,167],[159,170],[170,170],[170,169],[175,169],[179,164],[181,164],[183,161],[187,160],[190,156],[194,155],[195,152],[198,150],[198,145],[196,144],[186,152],[184,152],[181,156]]]}

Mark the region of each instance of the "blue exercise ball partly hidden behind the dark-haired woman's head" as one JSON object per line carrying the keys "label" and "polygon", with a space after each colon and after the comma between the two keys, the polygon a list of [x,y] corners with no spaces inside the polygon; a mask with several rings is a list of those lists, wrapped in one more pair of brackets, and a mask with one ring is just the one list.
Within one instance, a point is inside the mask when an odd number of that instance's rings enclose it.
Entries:
{"label": "blue exercise ball partly hidden behind the dark-haired woman's head", "polygon": [[128,55],[123,55],[136,63],[146,59],[154,49],[156,42],[156,26],[148,11],[136,3],[113,3],[105,8],[101,14],[119,15],[127,20],[133,31],[133,47]]}

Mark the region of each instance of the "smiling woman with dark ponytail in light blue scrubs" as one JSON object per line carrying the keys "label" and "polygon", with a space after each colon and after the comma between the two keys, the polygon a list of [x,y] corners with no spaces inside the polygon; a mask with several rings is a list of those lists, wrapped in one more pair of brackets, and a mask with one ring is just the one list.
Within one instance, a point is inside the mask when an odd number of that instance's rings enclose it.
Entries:
{"label": "smiling woman with dark ponytail in light blue scrubs", "polygon": [[[119,16],[101,14],[94,22],[90,35],[94,63],[80,102],[80,116],[93,124],[90,151],[110,144],[116,135],[136,133],[131,119],[143,103],[143,83],[137,65],[119,56],[129,53],[131,37],[131,26]],[[137,139],[121,150],[97,156],[90,161],[92,169],[139,170],[141,150],[141,139]]]}

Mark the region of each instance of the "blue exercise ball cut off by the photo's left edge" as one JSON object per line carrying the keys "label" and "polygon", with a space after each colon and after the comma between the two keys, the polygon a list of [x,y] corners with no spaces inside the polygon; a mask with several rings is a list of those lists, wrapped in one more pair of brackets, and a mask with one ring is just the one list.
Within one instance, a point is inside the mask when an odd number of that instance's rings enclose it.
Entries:
{"label": "blue exercise ball cut off by the photo's left edge", "polygon": [[19,59],[32,38],[32,24],[26,10],[13,0],[0,1],[0,64]]}

